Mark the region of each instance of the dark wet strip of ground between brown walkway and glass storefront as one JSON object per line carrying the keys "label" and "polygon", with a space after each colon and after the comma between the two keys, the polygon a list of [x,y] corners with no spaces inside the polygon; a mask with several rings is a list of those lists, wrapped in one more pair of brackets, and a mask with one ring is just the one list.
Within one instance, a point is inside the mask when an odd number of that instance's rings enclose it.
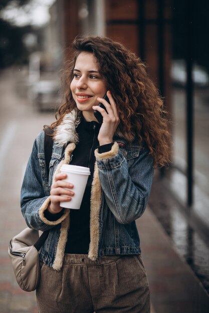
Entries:
{"label": "dark wet strip of ground between brown walkway and glass storefront", "polygon": [[184,211],[166,183],[166,180],[163,181],[155,175],[149,206],[178,253],[209,294],[208,237],[203,233],[203,229],[192,223],[191,216]]}

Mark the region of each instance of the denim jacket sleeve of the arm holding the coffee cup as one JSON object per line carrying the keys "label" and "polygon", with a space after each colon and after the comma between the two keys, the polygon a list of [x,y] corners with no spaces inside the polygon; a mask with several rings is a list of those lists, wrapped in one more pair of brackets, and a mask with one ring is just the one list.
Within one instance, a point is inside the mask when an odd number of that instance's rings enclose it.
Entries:
{"label": "denim jacket sleeve of the arm holding the coffee cup", "polygon": [[45,211],[50,203],[50,195],[46,194],[43,188],[41,167],[38,159],[38,144],[44,144],[44,140],[40,140],[40,138],[41,135],[34,142],[26,167],[21,188],[21,211],[30,228],[45,231],[61,223],[69,214],[69,210],[64,210],[62,216],[57,220],[48,219],[47,214],[45,216]]}

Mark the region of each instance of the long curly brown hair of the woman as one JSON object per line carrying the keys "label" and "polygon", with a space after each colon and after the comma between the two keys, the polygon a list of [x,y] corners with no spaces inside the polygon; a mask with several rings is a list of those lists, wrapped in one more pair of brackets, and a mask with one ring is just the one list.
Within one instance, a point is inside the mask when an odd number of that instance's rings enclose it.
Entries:
{"label": "long curly brown hair of the woman", "polygon": [[65,62],[62,75],[62,103],[56,113],[55,127],[64,115],[76,107],[70,84],[80,52],[91,52],[97,58],[99,72],[117,104],[119,130],[129,142],[138,138],[153,157],[153,165],[169,162],[170,132],[162,98],[149,78],[145,64],[123,44],[108,37],[77,36]]}

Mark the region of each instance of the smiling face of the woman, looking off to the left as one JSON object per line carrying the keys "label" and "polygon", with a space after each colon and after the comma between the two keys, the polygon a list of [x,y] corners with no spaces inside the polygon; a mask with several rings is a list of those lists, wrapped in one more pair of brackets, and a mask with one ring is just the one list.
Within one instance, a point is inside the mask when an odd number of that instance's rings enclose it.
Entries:
{"label": "smiling face of the woman, looking off to the left", "polygon": [[70,88],[79,110],[87,121],[97,120],[92,109],[107,91],[104,78],[99,73],[96,57],[90,52],[81,52],[76,60]]}

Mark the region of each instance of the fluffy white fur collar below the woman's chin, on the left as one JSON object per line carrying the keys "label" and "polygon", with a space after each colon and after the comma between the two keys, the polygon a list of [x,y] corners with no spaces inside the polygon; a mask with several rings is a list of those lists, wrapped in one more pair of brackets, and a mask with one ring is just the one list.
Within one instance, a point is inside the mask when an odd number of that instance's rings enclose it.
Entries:
{"label": "fluffy white fur collar below the woman's chin, on the left", "polygon": [[80,123],[80,113],[77,109],[72,110],[72,112],[67,113],[55,130],[54,141],[57,146],[61,147],[68,142],[77,143],[79,138],[76,132],[76,127]]}

